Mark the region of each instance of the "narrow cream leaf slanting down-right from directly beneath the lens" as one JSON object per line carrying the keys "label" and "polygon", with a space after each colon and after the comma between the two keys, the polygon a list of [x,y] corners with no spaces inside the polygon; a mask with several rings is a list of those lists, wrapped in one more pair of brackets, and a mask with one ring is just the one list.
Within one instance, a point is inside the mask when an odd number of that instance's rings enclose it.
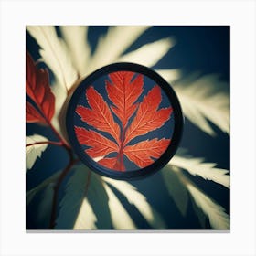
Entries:
{"label": "narrow cream leaf slanting down-right from directly beneath the lens", "polygon": [[142,195],[136,187],[133,187],[125,181],[113,180],[110,178],[104,178],[104,180],[118,189],[123,196],[127,198],[129,203],[134,205],[140,211],[144,219],[146,219],[154,229],[165,229],[164,219],[161,218],[160,214],[147,202],[144,195]]}

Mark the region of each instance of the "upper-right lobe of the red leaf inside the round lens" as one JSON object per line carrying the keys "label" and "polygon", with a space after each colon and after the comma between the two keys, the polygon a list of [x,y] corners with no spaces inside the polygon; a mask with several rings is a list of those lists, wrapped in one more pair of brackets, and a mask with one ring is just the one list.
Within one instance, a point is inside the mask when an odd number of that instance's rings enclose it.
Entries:
{"label": "upper-right lobe of the red leaf inside the round lens", "polygon": [[140,103],[136,116],[125,134],[124,145],[137,136],[160,128],[169,120],[172,112],[171,107],[157,111],[161,101],[161,89],[156,85]]}

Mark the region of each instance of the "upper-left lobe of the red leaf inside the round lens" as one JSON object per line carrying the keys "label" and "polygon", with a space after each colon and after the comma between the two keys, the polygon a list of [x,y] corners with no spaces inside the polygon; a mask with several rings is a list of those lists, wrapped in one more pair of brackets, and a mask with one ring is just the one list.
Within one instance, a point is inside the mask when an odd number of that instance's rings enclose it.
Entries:
{"label": "upper-left lobe of the red leaf inside the round lens", "polygon": [[91,86],[86,90],[87,101],[91,107],[78,106],[76,112],[83,122],[103,132],[110,133],[116,143],[120,143],[120,127],[114,122],[112,112],[101,94]]}

